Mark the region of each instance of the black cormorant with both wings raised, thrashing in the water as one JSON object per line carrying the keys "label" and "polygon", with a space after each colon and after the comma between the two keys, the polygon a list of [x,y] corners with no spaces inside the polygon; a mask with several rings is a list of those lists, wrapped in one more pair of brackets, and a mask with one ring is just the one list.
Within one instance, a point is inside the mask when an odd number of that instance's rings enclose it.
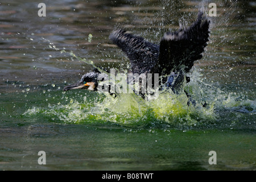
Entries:
{"label": "black cormorant with both wings raised, thrashing in the water", "polygon": [[[130,73],[158,73],[159,85],[171,88],[174,93],[180,93],[184,82],[189,82],[186,74],[193,67],[194,61],[203,57],[201,53],[209,41],[209,23],[203,12],[199,11],[196,21],[190,27],[167,32],[160,45],[147,42],[144,38],[122,29],[114,30],[109,39],[130,59]],[[82,76],[77,84],[67,86],[64,90],[97,90],[98,81],[105,79],[108,79],[105,73],[94,69]]]}

